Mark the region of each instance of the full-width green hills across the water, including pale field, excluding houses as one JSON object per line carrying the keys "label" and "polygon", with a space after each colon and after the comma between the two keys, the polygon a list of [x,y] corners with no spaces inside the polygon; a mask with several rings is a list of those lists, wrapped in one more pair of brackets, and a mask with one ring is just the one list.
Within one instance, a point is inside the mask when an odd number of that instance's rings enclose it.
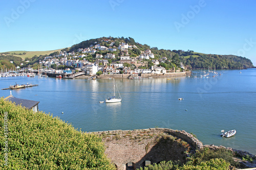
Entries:
{"label": "full-width green hills across the water, including pale field, excluding houses", "polygon": [[[127,43],[129,45],[136,45],[137,48],[129,48],[128,52],[130,57],[137,57],[144,52],[145,50],[150,49],[152,53],[154,53],[155,58],[161,61],[161,66],[165,67],[166,69],[170,69],[173,67],[180,67],[181,63],[188,69],[201,69],[201,68],[216,68],[216,69],[246,69],[246,68],[254,68],[252,62],[245,58],[233,55],[212,55],[212,54],[203,54],[194,51],[183,51],[183,50],[164,50],[158,49],[158,47],[151,47],[147,44],[140,44],[136,42],[133,38],[128,37],[101,37],[90,39],[86,41],[82,41],[78,44],[72,45],[70,48],[63,48],[54,51],[44,51],[44,52],[26,52],[26,51],[13,51],[13,52],[6,52],[0,53],[0,67],[5,68],[13,68],[15,66],[20,66],[22,63],[21,59],[26,59],[26,61],[30,61],[23,65],[23,67],[27,67],[28,65],[32,66],[33,68],[37,69],[39,64],[39,60],[43,60],[46,56],[52,54],[58,54],[61,50],[67,52],[77,52],[79,48],[87,48],[90,45],[100,44],[102,46],[110,47],[110,44],[113,43],[113,47],[118,47],[120,43]],[[121,51],[117,49],[117,51],[110,52],[110,51],[97,51],[95,54],[87,54],[85,57],[88,61],[94,62],[96,54],[105,55],[106,53],[113,53],[116,56],[121,55]],[[80,52],[80,54],[82,54]],[[77,54],[77,55],[80,55]],[[15,58],[16,57],[16,58]],[[5,60],[5,61],[1,61]],[[145,59],[143,59],[145,60]],[[145,64],[143,67],[151,68],[152,66],[152,59],[145,60]],[[8,63],[7,61],[13,61],[13,65],[5,64]],[[135,65],[133,65],[135,67]]]}

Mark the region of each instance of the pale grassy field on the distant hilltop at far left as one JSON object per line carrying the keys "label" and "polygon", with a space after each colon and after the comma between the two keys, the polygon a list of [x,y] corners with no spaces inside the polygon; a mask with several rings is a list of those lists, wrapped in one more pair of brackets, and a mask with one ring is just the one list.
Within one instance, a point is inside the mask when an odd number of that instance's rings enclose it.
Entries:
{"label": "pale grassy field on the distant hilltop at far left", "polygon": [[[40,55],[49,55],[53,52],[60,52],[62,49],[58,49],[58,50],[52,50],[52,51],[33,51],[33,52],[28,52],[28,51],[11,51],[11,52],[5,52],[5,53],[10,53],[8,55],[13,55],[13,56],[16,56],[16,57],[21,57],[22,59],[25,59],[26,57],[28,58],[32,58],[34,57],[35,55],[36,56],[40,56]],[[14,55],[14,53],[16,55]],[[26,53],[25,55],[18,55],[18,54],[23,54],[23,53]],[[0,53],[0,54],[3,54],[3,53]],[[5,55],[5,54],[4,54]]]}

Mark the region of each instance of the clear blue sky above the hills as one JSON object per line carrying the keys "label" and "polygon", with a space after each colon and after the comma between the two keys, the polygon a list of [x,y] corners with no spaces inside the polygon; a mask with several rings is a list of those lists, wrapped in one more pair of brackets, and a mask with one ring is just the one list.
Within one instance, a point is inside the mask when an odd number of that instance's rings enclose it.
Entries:
{"label": "clear blue sky above the hills", "polygon": [[0,52],[48,51],[102,36],[256,65],[256,1],[0,1]]}

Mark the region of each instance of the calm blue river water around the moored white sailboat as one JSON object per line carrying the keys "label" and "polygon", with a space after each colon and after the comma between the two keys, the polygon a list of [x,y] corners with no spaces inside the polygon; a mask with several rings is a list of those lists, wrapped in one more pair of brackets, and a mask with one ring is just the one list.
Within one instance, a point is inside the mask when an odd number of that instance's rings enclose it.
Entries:
{"label": "calm blue river water around the moored white sailboat", "polygon": [[[224,72],[223,72],[224,71]],[[193,71],[194,75],[200,71]],[[256,69],[218,70],[208,79],[179,77],[152,80],[115,79],[122,103],[100,104],[113,80],[0,78],[0,87],[39,84],[12,90],[13,96],[39,101],[39,110],[59,116],[82,131],[170,128],[197,135],[203,144],[223,145],[256,154]],[[1,90],[8,96],[10,90]],[[183,101],[178,101],[183,98]],[[187,111],[186,111],[187,110]],[[64,112],[61,114],[61,112]],[[230,138],[220,131],[236,129]]]}

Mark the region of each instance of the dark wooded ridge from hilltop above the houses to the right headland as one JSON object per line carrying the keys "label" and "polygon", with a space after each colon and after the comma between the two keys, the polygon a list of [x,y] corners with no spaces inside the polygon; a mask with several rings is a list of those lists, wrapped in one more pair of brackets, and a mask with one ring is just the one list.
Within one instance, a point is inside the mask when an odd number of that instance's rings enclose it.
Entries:
{"label": "dark wooded ridge from hilltop above the houses to the right headland", "polygon": [[[105,39],[109,39],[109,42],[105,42]],[[245,57],[233,56],[233,55],[212,55],[212,54],[204,54],[198,53],[194,51],[183,51],[183,50],[164,50],[158,49],[157,47],[151,47],[147,44],[140,44],[135,42],[135,40],[131,37],[128,38],[114,38],[114,37],[101,37],[96,39],[90,39],[86,41],[82,41],[78,44],[72,45],[70,48],[70,52],[77,51],[78,48],[86,48],[91,44],[99,43],[100,45],[109,47],[110,43],[114,42],[114,45],[118,47],[118,45],[122,42],[128,43],[130,45],[136,45],[138,47],[138,52],[145,51],[150,49],[152,53],[155,54],[155,59],[161,59],[166,57],[167,61],[165,63],[161,63],[161,66],[166,68],[171,68],[173,66],[179,66],[180,62],[182,62],[188,69],[201,69],[201,68],[216,68],[216,69],[246,69],[246,68],[254,68],[251,60]],[[136,53],[137,50],[129,49],[129,54],[131,57],[138,56]],[[102,52],[100,52],[102,53]],[[107,53],[107,52],[104,52]],[[103,53],[103,54],[104,54]],[[108,52],[109,53],[109,52]],[[119,55],[120,51],[112,52]]]}

